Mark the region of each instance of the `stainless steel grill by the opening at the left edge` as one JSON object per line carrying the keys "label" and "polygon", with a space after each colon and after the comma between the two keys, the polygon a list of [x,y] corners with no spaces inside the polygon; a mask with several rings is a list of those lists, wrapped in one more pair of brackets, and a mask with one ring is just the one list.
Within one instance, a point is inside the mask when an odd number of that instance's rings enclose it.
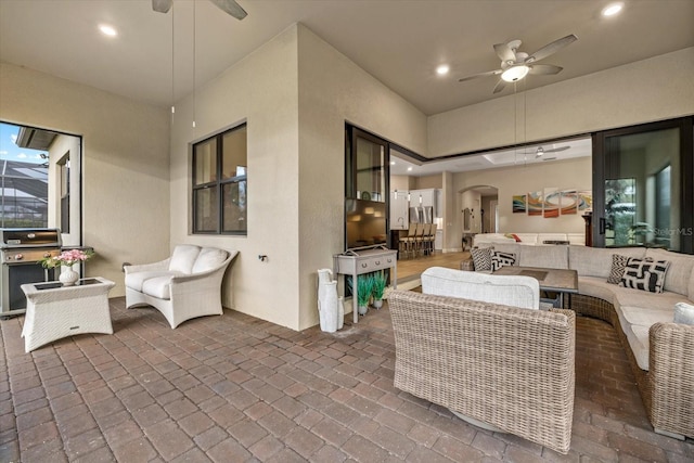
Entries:
{"label": "stainless steel grill by the opening at the left edge", "polygon": [[24,313],[25,283],[54,280],[39,261],[61,253],[59,229],[0,229],[0,317]]}

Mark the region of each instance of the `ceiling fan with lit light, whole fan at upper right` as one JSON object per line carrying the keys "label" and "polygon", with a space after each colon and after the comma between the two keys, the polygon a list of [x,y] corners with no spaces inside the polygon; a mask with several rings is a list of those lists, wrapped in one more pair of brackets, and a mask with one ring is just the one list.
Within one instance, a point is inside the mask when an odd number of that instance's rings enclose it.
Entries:
{"label": "ceiling fan with lit light, whole fan at upper right", "polygon": [[477,77],[501,75],[501,78],[499,79],[499,82],[497,82],[493,91],[494,93],[499,93],[504,89],[507,82],[518,81],[528,74],[545,76],[558,74],[563,69],[562,67],[554,66],[552,64],[537,64],[537,62],[556,53],[576,40],[578,40],[578,37],[571,34],[545,44],[532,54],[518,51],[523,43],[520,40],[512,40],[509,43],[497,43],[494,46],[494,51],[501,59],[501,69],[474,74],[472,76],[463,77],[462,79],[459,79],[459,81],[464,82],[465,80],[476,79]]}

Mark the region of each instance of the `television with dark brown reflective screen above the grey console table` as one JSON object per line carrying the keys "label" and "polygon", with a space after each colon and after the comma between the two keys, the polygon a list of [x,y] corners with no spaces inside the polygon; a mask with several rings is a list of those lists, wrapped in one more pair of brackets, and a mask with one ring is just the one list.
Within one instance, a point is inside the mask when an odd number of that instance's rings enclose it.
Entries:
{"label": "television with dark brown reflective screen above the grey console table", "polygon": [[355,247],[388,244],[386,203],[345,200],[345,244]]}

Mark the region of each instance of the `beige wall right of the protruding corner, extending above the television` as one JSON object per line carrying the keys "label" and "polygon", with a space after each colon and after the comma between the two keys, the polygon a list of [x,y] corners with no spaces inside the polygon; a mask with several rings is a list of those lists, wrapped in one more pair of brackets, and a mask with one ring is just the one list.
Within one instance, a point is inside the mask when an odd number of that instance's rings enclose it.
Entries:
{"label": "beige wall right of the protruding corner, extending above the television", "polygon": [[[426,117],[307,27],[299,50],[300,325],[318,323],[316,271],[344,250],[345,121],[414,152]],[[349,309],[349,305],[347,305]]]}

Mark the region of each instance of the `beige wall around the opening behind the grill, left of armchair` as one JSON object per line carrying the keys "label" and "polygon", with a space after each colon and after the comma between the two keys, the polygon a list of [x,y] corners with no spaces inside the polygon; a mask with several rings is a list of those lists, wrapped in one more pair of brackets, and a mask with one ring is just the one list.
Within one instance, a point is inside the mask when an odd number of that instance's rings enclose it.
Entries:
{"label": "beige wall around the opening behind the grill, left of armchair", "polygon": [[0,119],[82,136],[83,244],[88,275],[116,282],[124,261],[168,254],[169,112],[0,63]]}

